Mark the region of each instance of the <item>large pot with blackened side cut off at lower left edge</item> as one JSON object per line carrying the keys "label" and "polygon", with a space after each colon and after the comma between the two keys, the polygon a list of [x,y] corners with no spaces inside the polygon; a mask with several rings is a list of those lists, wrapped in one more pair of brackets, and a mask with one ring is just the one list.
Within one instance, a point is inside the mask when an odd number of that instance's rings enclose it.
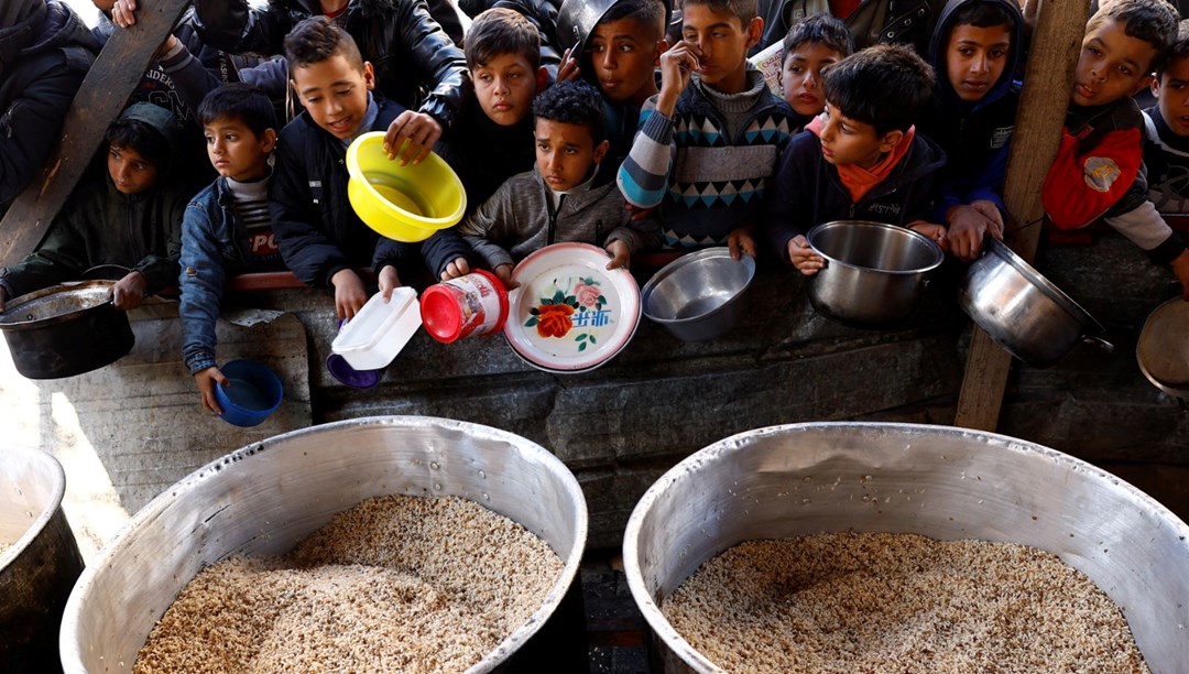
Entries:
{"label": "large pot with blackened side cut off at lower left edge", "polygon": [[0,669],[52,672],[58,623],[82,573],[62,512],[67,477],[39,449],[0,449]]}

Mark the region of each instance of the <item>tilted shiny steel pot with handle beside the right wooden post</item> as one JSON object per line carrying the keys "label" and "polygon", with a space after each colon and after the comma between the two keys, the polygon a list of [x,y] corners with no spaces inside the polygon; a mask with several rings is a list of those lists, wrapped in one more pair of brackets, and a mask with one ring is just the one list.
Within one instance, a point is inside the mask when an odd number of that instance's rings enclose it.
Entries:
{"label": "tilted shiny steel pot with handle beside the right wooden post", "polygon": [[1100,339],[1102,326],[1006,244],[987,238],[967,269],[958,304],[993,340],[1033,367],[1049,367],[1080,341]]}

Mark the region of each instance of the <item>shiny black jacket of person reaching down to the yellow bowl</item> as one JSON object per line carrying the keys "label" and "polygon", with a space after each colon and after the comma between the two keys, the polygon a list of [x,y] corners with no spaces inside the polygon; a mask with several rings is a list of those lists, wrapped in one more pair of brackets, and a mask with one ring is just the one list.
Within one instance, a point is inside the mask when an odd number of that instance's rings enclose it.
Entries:
{"label": "shiny black jacket of person reaching down to the yellow bowl", "polygon": [[[266,56],[283,53],[289,31],[322,13],[317,0],[270,0],[266,8],[249,6],[247,0],[195,0],[194,10],[203,42],[233,53]],[[466,58],[423,0],[351,0],[335,23],[376,69],[379,92],[451,126],[470,86]]]}

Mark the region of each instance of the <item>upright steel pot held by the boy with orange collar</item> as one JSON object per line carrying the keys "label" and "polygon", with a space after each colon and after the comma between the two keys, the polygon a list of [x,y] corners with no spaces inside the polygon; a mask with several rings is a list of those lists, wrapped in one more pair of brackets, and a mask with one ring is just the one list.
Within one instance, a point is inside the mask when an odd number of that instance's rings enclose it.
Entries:
{"label": "upright steel pot held by the boy with orange collar", "polygon": [[818,225],[806,235],[825,269],[810,277],[810,303],[841,323],[879,328],[907,320],[945,253],[924,234],[863,220]]}

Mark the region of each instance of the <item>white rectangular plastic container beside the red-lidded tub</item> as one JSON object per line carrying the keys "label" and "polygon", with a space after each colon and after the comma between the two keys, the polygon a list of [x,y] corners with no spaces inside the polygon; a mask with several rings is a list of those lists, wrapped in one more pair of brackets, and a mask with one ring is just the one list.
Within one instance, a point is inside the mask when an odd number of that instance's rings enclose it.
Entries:
{"label": "white rectangular plastic container beside the red-lidded tub", "polygon": [[347,321],[331,342],[331,351],[356,370],[388,366],[421,327],[421,305],[411,288],[397,288],[385,303],[377,292]]}

